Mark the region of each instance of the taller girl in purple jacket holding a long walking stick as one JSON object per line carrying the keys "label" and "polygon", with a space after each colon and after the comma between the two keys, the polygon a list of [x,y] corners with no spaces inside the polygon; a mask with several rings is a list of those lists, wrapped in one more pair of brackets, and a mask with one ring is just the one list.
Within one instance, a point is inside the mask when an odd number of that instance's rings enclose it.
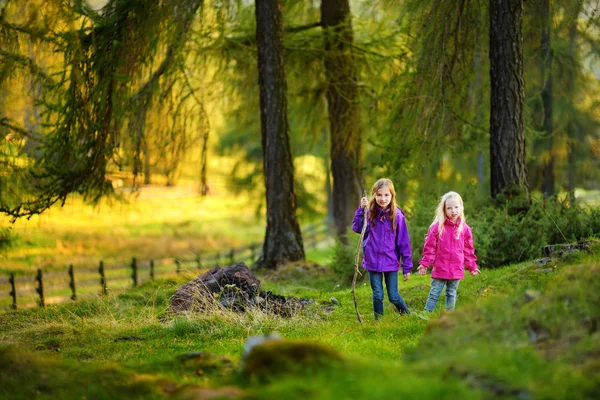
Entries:
{"label": "taller girl in purple jacket holding a long walking stick", "polygon": [[396,206],[396,191],[389,179],[380,179],[373,185],[371,201],[363,197],[354,214],[352,230],[362,231],[367,209],[367,228],[363,240],[363,268],[369,271],[373,291],[375,319],[383,316],[383,281],[388,299],[401,314],[410,314],[404,299],[398,293],[398,270],[402,267],[404,280],[412,269],[410,237],[404,213]]}

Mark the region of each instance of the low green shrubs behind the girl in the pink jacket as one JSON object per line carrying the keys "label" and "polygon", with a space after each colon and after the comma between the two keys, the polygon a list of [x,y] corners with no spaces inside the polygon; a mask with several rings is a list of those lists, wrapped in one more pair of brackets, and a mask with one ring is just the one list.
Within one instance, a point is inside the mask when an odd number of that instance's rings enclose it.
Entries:
{"label": "low green shrubs behind the girl in the pink jacket", "polygon": [[[413,263],[418,264],[427,229],[433,219],[433,196],[420,197],[409,217]],[[513,214],[508,202],[498,207],[488,202],[469,204],[465,198],[467,223],[473,231],[475,254],[480,267],[497,268],[541,256],[548,244],[576,242],[600,236],[600,208],[582,208],[557,197],[532,199],[527,211]]]}

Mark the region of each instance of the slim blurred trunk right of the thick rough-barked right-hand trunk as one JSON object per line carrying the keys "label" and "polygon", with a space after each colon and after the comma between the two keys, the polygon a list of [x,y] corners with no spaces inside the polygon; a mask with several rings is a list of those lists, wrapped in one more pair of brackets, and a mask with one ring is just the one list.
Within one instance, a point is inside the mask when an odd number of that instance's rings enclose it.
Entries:
{"label": "slim blurred trunk right of the thick rough-barked right-hand trunk", "polygon": [[552,123],[552,19],[550,13],[550,0],[544,0],[541,4],[540,17],[542,19],[542,43],[541,43],[541,74],[542,74],[542,104],[544,106],[544,147],[548,152],[548,160],[543,167],[542,192],[544,197],[554,195],[554,144]]}

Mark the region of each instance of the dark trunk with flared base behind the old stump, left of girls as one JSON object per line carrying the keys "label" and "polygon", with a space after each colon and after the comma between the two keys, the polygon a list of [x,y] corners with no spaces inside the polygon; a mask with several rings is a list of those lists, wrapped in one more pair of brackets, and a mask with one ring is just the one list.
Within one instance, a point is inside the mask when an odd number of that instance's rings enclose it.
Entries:
{"label": "dark trunk with flared base behind the old stump, left of girls", "polygon": [[294,164],[290,149],[281,0],[256,1],[261,141],[267,192],[267,230],[257,266],[277,268],[304,259],[296,220]]}

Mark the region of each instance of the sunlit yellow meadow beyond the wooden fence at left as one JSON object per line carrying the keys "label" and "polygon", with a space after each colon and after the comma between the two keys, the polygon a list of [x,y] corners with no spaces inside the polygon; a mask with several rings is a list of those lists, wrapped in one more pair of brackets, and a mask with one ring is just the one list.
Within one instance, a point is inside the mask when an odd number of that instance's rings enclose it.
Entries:
{"label": "sunlit yellow meadow beyond the wooden fence at left", "polygon": [[185,257],[260,242],[264,222],[251,204],[243,195],[202,198],[191,187],[144,187],[126,203],[97,207],[69,198],[64,207],[12,225],[16,241],[4,251],[2,269]]}

